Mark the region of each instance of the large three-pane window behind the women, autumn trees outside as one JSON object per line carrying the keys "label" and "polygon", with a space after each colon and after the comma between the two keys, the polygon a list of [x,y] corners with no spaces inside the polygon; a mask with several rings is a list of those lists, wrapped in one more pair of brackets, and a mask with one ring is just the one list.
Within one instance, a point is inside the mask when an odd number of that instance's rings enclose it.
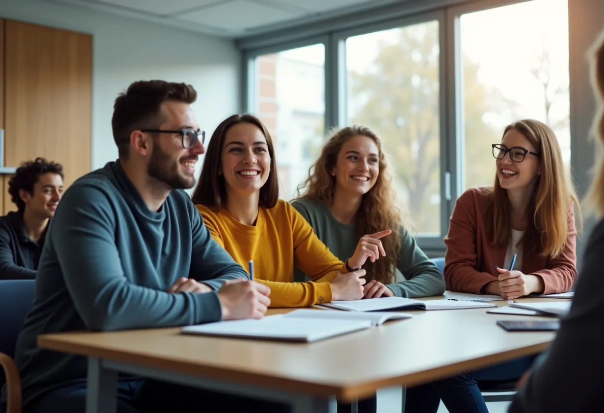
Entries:
{"label": "large three-pane window behind the women, autumn trees outside", "polygon": [[[255,67],[248,109],[274,133],[281,197],[306,179],[329,127],[367,124],[419,245],[442,252],[457,197],[493,184],[490,146],[507,124],[547,123],[571,169],[568,0],[443,1],[435,10],[440,1],[384,6],[382,21],[335,18],[309,28],[312,40],[283,31],[257,49],[241,40]],[[280,46],[281,35],[304,47]]]}

